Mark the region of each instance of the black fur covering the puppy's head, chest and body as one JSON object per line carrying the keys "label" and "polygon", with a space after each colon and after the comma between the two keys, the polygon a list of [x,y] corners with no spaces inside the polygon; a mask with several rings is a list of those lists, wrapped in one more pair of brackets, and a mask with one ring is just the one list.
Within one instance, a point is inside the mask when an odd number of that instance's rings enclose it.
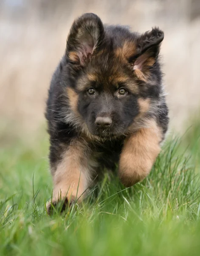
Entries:
{"label": "black fur covering the puppy's head, chest and body", "polygon": [[[145,118],[152,117],[161,126],[164,138],[168,108],[158,59],[162,40],[163,32],[158,28],[139,35],[125,26],[104,26],[94,14],[82,15],[73,23],[65,55],[51,80],[46,107],[52,169],[61,160],[70,141],[82,137],[88,139],[93,151],[102,153],[97,157],[101,166],[114,169],[124,138],[135,132],[129,131],[129,127],[139,115],[139,98],[149,98],[151,103],[149,112],[135,123],[135,130],[138,125],[145,125]],[[126,41],[135,45],[134,51],[129,56],[125,56],[126,53],[117,55],[117,50],[122,49]],[[148,66],[146,59],[138,61],[142,55],[148,60],[154,58],[155,63]],[[137,61],[144,65],[146,81],[135,75],[133,67]],[[88,79],[88,74],[94,74],[96,80]],[[117,76],[128,79],[115,84]],[[93,95],[88,93],[90,87],[95,90]],[[127,90],[125,95],[118,94],[120,87]],[[67,88],[77,95],[79,116],[71,109]],[[106,128],[98,127],[95,123],[97,116],[109,116],[112,124]]]}

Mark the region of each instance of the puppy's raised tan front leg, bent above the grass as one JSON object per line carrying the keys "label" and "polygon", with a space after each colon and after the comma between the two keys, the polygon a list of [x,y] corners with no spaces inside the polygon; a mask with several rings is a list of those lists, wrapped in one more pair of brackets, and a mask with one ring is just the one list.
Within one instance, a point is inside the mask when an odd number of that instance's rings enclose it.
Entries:
{"label": "puppy's raised tan front leg, bent above the grass", "polygon": [[119,160],[119,177],[125,186],[132,186],[149,174],[161,151],[161,141],[161,128],[153,119],[125,140]]}

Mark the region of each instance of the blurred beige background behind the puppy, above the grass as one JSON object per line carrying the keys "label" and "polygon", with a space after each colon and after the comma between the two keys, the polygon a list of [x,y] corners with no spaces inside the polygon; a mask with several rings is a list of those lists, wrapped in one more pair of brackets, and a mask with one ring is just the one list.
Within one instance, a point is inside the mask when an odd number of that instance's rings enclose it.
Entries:
{"label": "blurred beige background behind the puppy, above the grass", "polygon": [[200,113],[200,0],[0,0],[0,144],[44,132],[45,100],[73,20],[94,12],[104,23],[165,32],[161,54],[171,131]]}

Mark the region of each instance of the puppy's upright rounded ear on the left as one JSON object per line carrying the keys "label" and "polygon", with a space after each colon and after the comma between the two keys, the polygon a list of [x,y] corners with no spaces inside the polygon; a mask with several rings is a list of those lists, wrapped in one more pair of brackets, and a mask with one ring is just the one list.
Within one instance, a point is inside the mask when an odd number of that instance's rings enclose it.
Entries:
{"label": "puppy's upright rounded ear on the left", "polygon": [[104,26],[93,13],[85,13],[71,26],[67,40],[66,56],[73,64],[81,66],[95,54],[104,36]]}

